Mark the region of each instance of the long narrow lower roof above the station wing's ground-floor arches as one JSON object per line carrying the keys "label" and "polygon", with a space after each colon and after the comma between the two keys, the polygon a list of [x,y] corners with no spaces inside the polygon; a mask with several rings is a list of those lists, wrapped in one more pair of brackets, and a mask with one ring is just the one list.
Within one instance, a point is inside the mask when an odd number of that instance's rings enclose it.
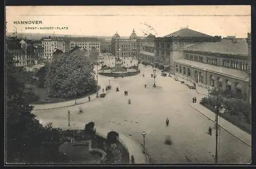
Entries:
{"label": "long narrow lower roof above the station wing's ground-floor arches", "polygon": [[243,81],[247,81],[248,79],[248,74],[245,71],[242,70],[237,70],[237,69],[232,69],[232,68],[227,68],[227,67],[222,67],[222,66],[216,66],[216,65],[211,65],[211,64],[206,64],[206,63],[201,63],[201,62],[196,62],[192,60],[187,60],[187,59],[179,59],[174,61],[175,63],[180,63],[184,65],[188,65],[191,67],[196,67],[201,70],[207,70],[211,71],[216,74],[224,75],[224,76],[229,76],[232,78],[240,79]]}

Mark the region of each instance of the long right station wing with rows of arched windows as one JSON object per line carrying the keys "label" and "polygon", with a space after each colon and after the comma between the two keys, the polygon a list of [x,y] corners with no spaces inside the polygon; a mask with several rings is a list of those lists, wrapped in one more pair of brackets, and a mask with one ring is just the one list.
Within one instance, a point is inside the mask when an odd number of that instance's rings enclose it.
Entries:
{"label": "long right station wing with rows of arched windows", "polygon": [[223,38],[202,42],[183,50],[174,61],[175,75],[207,88],[231,90],[250,97],[250,34],[248,38]]}

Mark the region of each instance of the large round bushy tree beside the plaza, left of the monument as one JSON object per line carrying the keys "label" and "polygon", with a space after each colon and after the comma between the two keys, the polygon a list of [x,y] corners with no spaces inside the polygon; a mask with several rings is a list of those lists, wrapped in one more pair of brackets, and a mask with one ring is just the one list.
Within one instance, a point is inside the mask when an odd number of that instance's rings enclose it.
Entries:
{"label": "large round bushy tree beside the plaza, left of the monument", "polygon": [[45,87],[51,98],[75,98],[95,92],[94,65],[85,51],[71,50],[50,64]]}

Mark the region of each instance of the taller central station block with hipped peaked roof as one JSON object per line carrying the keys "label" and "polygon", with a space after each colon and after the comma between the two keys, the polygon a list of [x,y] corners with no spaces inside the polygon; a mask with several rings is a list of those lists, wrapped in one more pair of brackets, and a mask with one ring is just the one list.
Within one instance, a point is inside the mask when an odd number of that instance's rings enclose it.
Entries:
{"label": "taller central station block with hipped peaked roof", "polygon": [[220,40],[220,36],[210,36],[187,27],[182,28],[164,37],[155,38],[155,64],[161,69],[169,69],[170,73],[174,73],[174,61],[184,57],[184,48],[197,43]]}

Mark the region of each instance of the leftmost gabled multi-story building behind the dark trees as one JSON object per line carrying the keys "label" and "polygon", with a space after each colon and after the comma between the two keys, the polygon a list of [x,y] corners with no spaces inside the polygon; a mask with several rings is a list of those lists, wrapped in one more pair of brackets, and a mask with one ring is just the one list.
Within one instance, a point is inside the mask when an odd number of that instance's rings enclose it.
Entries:
{"label": "leftmost gabled multi-story building behind the dark trees", "polygon": [[39,64],[44,49],[39,41],[10,37],[6,39],[6,50],[14,54],[16,66],[32,66]]}

